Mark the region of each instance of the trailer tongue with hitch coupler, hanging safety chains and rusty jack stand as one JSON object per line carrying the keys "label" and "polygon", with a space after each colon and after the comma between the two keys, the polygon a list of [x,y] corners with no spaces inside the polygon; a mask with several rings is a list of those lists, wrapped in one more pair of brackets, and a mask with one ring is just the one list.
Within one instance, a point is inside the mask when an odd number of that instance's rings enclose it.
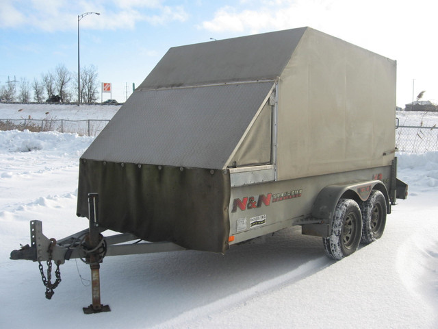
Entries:
{"label": "trailer tongue with hitch coupler, hanging safety chains and rusty jack stand", "polygon": [[[53,289],[61,282],[60,265],[64,264],[66,260],[80,258],[84,263],[90,265],[92,304],[82,308],[85,314],[110,311],[110,306],[101,304],[99,269],[104,257],[185,250],[185,248],[171,242],[151,243],[142,241],[138,236],[129,233],[103,236],[101,233],[106,229],[99,226],[98,202],[97,193],[88,195],[89,228],[86,230],[67,236],[64,239],[55,240],[44,236],[41,221],[31,221],[30,245],[22,245],[21,249],[12,250],[10,254],[12,260],[38,262],[42,282],[46,287],[47,299],[51,299]],[[47,262],[46,274],[42,267],[44,261]],[[55,282],[51,282],[53,263],[56,265]]]}

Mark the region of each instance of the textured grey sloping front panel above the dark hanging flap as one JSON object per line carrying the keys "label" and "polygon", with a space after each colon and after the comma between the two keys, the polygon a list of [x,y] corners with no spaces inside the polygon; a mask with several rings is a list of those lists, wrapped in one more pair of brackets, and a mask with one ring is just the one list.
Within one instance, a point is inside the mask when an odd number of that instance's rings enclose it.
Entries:
{"label": "textured grey sloping front panel above the dark hanging flap", "polygon": [[224,169],[273,85],[136,91],[82,158]]}

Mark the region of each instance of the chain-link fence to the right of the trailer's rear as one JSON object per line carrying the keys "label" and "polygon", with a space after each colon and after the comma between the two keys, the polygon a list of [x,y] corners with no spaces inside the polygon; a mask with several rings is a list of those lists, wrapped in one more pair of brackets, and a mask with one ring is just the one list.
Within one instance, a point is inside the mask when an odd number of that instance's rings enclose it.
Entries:
{"label": "chain-link fence to the right of the trailer's rear", "polygon": [[438,151],[438,127],[400,125],[396,129],[396,147],[406,153]]}

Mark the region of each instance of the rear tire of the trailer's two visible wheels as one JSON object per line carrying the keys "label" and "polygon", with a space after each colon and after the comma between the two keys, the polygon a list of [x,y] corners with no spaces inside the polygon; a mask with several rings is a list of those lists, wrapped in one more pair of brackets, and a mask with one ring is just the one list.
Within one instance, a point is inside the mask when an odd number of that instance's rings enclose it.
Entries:
{"label": "rear tire of the trailer's two visible wheels", "polygon": [[386,200],[381,191],[373,190],[368,200],[361,203],[361,243],[370,244],[383,235],[386,225]]}

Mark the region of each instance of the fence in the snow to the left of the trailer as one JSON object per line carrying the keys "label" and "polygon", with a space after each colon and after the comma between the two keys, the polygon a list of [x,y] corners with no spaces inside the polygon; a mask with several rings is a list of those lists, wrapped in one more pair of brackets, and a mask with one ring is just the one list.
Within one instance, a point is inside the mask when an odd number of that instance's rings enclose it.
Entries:
{"label": "fence in the snow to the left of the trailer", "polygon": [[0,130],[56,131],[81,136],[97,136],[108,122],[110,120],[0,119]]}

